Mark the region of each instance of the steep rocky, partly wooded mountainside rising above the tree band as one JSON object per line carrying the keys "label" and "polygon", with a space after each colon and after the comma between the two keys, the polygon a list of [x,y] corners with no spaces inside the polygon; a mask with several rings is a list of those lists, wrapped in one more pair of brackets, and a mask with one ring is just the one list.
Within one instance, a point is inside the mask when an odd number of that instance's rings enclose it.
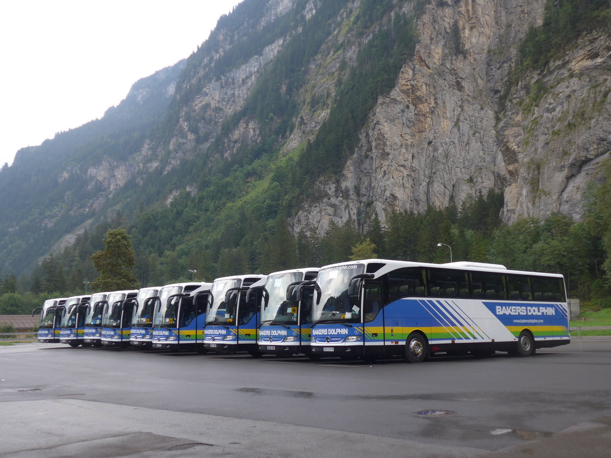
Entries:
{"label": "steep rocky, partly wooded mountainside rising above the tree band", "polygon": [[119,106],[90,123],[101,133],[60,134],[0,172],[2,267],[26,271],[117,209],[146,256],[247,266],[277,217],[293,234],[364,232],[496,189],[507,222],[579,218],[610,146],[609,31],[578,29],[516,73],[549,16],[540,0],[245,0],[166,69],[171,98],[142,122],[111,123]]}

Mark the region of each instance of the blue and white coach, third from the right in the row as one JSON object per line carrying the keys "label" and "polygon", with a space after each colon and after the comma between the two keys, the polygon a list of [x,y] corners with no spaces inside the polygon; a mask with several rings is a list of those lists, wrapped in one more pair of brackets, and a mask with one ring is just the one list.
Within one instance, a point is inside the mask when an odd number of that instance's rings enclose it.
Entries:
{"label": "blue and white coach, third from the right in the row", "polygon": [[[255,274],[214,280],[203,329],[207,351],[246,351],[254,357],[261,355],[257,345],[257,327],[265,279],[266,275]],[[250,288],[251,294],[247,294]]]}

